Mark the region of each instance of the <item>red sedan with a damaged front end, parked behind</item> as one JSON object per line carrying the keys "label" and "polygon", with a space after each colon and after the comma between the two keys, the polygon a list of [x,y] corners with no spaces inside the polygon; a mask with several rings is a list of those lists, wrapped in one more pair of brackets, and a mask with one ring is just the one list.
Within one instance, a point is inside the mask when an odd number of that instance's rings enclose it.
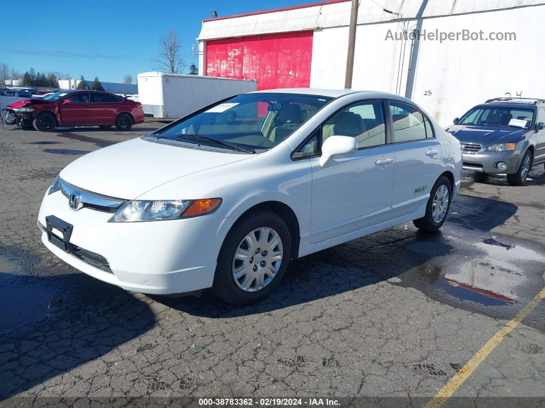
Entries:
{"label": "red sedan with a damaged front end, parked behind", "polygon": [[56,126],[116,126],[130,130],[144,121],[142,103],[94,90],[59,90],[44,98],[29,98],[4,107],[21,126],[50,131]]}

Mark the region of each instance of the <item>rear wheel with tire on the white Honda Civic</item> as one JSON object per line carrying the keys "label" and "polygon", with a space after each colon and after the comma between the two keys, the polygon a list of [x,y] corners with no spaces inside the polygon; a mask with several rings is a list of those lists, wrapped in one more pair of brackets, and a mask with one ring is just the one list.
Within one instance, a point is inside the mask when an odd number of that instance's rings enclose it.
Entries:
{"label": "rear wheel with tire on the white Honda Civic", "polygon": [[[432,191],[429,194],[428,204],[426,205],[426,215],[422,218],[418,218],[418,220],[414,220],[414,226],[429,232],[435,232],[441,228],[449,214],[451,197],[452,186],[450,180],[445,176],[440,176],[440,178],[435,181]],[[446,209],[444,206],[445,201]],[[435,208],[438,208],[439,212],[434,210]]]}

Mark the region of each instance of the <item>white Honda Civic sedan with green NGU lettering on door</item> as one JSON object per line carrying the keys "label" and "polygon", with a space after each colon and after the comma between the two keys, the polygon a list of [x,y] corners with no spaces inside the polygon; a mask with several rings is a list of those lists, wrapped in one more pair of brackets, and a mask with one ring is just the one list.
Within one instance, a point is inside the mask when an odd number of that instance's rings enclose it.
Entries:
{"label": "white Honda Civic sedan with green NGU lettering on door", "polygon": [[252,92],[70,163],[38,225],[101,281],[243,305],[290,259],[408,221],[439,229],[461,172],[457,139],[401,96]]}

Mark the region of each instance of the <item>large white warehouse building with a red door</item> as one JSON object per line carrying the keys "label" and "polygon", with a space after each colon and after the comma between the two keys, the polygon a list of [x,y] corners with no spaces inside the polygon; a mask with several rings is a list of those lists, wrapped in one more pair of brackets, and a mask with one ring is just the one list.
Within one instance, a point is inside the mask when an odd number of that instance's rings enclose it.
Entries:
{"label": "large white warehouse building with a red door", "polygon": [[[203,20],[199,74],[343,88],[349,20],[347,0]],[[407,96],[442,125],[495,96],[545,98],[543,21],[539,0],[361,0],[353,88]]]}

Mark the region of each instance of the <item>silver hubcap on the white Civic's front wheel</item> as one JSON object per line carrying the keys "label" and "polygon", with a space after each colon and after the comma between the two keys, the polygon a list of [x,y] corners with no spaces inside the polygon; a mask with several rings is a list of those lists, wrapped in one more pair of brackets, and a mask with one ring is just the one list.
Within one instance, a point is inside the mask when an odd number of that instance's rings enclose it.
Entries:
{"label": "silver hubcap on the white Civic's front wheel", "polygon": [[246,292],[267,286],[282,263],[280,235],[267,227],[256,228],[240,241],[233,258],[233,279]]}

